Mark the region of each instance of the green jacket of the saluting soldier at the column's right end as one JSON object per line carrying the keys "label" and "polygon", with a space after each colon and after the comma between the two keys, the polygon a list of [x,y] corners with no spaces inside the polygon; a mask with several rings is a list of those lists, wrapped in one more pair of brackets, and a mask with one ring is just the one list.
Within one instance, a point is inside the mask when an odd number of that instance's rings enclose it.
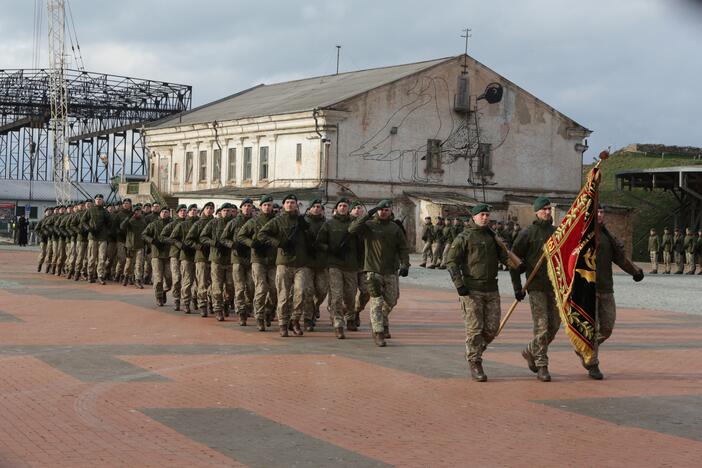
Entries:
{"label": "green jacket of the saluting soldier at the column's right end", "polygon": [[363,239],[363,271],[389,275],[400,267],[409,268],[407,237],[393,220],[366,213],[351,223],[349,232]]}

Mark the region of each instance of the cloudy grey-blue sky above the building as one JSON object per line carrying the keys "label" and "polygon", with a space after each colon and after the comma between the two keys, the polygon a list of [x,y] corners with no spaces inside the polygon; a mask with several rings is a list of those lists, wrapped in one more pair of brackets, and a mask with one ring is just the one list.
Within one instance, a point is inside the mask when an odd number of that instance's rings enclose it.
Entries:
{"label": "cloudy grey-blue sky above the building", "polygon": [[[34,0],[0,0],[0,68],[32,65]],[[44,0],[45,3],[45,0]],[[463,52],[611,145],[702,146],[702,2],[70,0],[89,71],[190,84],[200,105],[258,83]],[[46,15],[41,63],[48,63]]]}

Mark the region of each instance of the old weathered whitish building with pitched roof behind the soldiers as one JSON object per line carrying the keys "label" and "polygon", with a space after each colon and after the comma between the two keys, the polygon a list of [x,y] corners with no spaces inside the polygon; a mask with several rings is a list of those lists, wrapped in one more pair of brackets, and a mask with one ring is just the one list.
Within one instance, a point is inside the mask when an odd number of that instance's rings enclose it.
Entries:
{"label": "old weathered whitish building with pitched roof behind the soldiers", "polygon": [[589,134],[460,55],[259,85],[156,123],[147,145],[151,181],[183,202],[392,198],[416,241],[425,215],[485,200],[526,222],[535,196],[574,197]]}

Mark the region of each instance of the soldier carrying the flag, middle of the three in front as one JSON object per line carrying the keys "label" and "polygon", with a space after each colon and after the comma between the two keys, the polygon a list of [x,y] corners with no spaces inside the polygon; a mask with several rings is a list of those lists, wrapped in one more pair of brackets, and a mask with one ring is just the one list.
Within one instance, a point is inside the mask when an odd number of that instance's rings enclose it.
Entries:
{"label": "soldier carrying the flag, middle of the three in front", "polygon": [[[551,217],[551,201],[546,197],[537,197],[534,201],[536,219],[526,229],[520,231],[514,241],[512,252],[524,260],[526,276],[531,275],[543,252],[543,246],[556,230]],[[521,301],[525,294],[522,292],[522,281],[516,270],[510,270],[514,297]],[[548,278],[546,264],[542,263],[538,273],[529,284],[529,306],[534,322],[534,339],[522,351],[522,357],[527,361],[529,369],[536,373],[542,382],[550,382],[548,372],[548,345],[556,337],[561,325],[561,317],[556,307],[556,298]]]}

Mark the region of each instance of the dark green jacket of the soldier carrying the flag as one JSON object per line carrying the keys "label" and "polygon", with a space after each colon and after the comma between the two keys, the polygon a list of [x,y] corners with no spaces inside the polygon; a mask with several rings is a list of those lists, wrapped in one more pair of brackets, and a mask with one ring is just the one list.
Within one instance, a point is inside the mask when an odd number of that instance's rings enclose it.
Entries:
{"label": "dark green jacket of the soldier carrying the flag", "polygon": [[[514,240],[512,252],[524,261],[527,278],[531,275],[532,270],[541,258],[544,244],[555,230],[556,228],[551,224],[551,221],[536,219],[531,226],[521,230]],[[510,275],[512,277],[512,286],[514,289],[521,289],[522,283],[519,273],[510,270]],[[550,291],[551,289],[552,286],[551,281],[548,279],[546,262],[542,262],[539,271],[534,276],[527,290]]]}

